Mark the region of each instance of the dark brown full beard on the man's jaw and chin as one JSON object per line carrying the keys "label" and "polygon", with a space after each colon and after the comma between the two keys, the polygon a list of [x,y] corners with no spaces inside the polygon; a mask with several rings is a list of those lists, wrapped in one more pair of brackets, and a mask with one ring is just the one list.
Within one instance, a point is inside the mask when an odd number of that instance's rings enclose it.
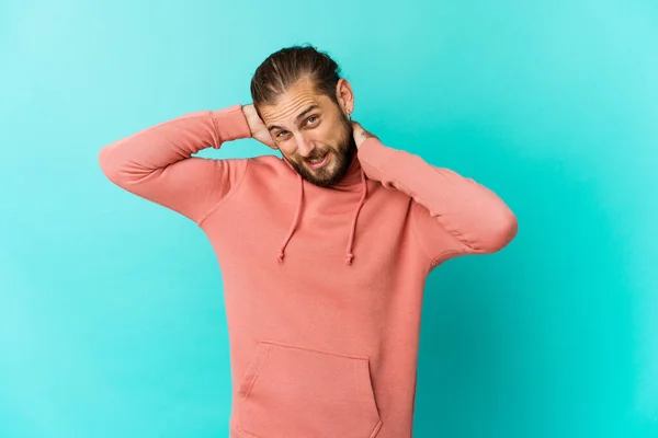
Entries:
{"label": "dark brown full beard on the man's jaw and chin", "polygon": [[[285,155],[284,158],[304,180],[320,187],[331,187],[345,176],[356,153],[356,142],[352,135],[352,124],[344,114],[341,118],[340,129],[341,135],[336,148],[329,148],[328,150],[322,151],[314,150],[306,159],[298,158],[299,162],[293,161]],[[327,162],[327,164],[317,171],[308,169],[305,164],[306,160],[315,160],[324,157],[326,153],[333,155],[332,163]],[[329,158],[331,159],[331,157]]]}

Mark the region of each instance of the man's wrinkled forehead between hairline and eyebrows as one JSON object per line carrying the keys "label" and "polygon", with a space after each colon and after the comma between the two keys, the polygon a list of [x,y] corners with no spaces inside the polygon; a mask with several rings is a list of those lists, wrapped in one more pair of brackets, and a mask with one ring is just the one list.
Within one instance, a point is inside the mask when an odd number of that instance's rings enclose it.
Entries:
{"label": "man's wrinkled forehead between hairline and eyebrows", "polygon": [[281,94],[276,103],[263,105],[260,113],[270,125],[294,124],[295,118],[310,106],[322,110],[329,99],[319,94],[310,81],[299,81]]}

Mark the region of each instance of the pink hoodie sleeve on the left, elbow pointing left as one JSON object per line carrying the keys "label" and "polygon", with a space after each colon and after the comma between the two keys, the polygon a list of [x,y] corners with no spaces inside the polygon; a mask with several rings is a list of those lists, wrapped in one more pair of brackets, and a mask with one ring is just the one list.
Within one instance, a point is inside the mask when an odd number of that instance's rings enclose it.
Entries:
{"label": "pink hoodie sleeve on the left, elbow pointing left", "polygon": [[99,152],[101,170],[127,192],[201,224],[238,185],[248,160],[192,154],[251,137],[241,108],[189,113],[107,145]]}

